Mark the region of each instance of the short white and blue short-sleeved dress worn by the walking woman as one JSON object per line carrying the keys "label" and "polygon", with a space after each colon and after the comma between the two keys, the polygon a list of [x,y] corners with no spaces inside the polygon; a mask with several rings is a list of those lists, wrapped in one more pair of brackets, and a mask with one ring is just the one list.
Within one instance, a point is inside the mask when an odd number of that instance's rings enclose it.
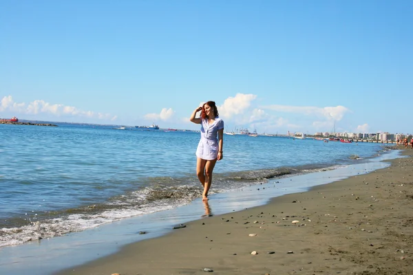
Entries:
{"label": "short white and blue short-sleeved dress worn by the walking woman", "polygon": [[201,159],[213,160],[218,157],[218,130],[224,129],[224,120],[215,118],[209,124],[207,119],[201,122],[201,140],[196,149],[196,156]]}

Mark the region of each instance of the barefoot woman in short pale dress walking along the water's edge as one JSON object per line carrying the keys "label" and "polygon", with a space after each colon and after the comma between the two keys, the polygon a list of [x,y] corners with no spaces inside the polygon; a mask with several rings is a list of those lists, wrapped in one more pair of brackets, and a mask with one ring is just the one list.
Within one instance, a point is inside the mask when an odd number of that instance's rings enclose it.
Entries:
{"label": "barefoot woman in short pale dress walking along the water's edge", "polygon": [[[198,111],[201,111],[200,118],[195,118]],[[218,117],[218,109],[213,101],[204,103],[202,107],[195,109],[190,120],[201,124],[201,140],[196,149],[196,175],[204,186],[202,201],[207,201],[213,168],[217,160],[222,159],[224,121]]]}

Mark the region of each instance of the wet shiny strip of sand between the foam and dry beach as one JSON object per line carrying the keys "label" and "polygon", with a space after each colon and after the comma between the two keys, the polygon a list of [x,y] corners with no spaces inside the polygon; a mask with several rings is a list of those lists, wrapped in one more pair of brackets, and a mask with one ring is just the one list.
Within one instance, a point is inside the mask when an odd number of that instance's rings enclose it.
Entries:
{"label": "wet shiny strip of sand between the foam and dry beach", "polygon": [[[94,263],[94,261],[105,259],[105,257],[110,258],[122,252],[131,243],[142,243],[148,239],[150,241],[187,230],[196,221],[209,221],[218,217],[217,215],[223,217],[224,214],[233,214],[235,211],[241,211],[245,208],[253,209],[255,206],[266,206],[266,203],[269,203],[273,197],[306,192],[314,186],[322,186],[332,181],[346,179],[352,175],[364,175],[372,170],[387,167],[390,165],[388,164],[389,159],[401,157],[400,152],[400,150],[388,151],[388,153],[370,159],[370,162],[316,173],[295,175],[284,179],[273,179],[266,184],[248,186],[248,188],[241,191],[215,194],[209,202],[211,206],[209,211],[215,215],[214,217],[205,217],[207,208],[204,208],[200,199],[195,199],[195,201],[185,206],[171,210],[132,217],[91,230],[67,234],[59,238],[43,239],[39,242],[32,241],[23,245],[5,247],[0,249],[0,273],[43,275],[61,274],[65,271],[69,272],[73,268],[77,270],[79,265],[84,267],[85,263],[87,265],[87,263]],[[178,223],[184,223],[187,228],[172,230],[172,226]],[[146,234],[139,234],[140,232]],[[72,268],[69,268],[71,266]],[[64,269],[66,270],[59,272]],[[132,272],[131,274],[137,273]],[[107,274],[107,271],[102,274]]]}

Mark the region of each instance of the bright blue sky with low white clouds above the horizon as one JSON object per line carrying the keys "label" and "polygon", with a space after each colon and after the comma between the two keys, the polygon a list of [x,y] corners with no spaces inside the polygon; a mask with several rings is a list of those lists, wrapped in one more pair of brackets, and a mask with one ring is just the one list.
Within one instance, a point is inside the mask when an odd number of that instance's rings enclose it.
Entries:
{"label": "bright blue sky with low white clouds above the horizon", "polygon": [[0,118],[412,133],[412,1],[0,1]]}

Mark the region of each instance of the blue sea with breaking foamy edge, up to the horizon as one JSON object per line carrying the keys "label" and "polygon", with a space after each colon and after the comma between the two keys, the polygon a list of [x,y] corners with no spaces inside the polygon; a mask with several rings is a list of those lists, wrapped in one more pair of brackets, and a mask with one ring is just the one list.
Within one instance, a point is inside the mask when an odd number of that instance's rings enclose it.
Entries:
{"label": "blue sea with breaking foamy edge, up to the horizon", "polygon": [[[200,197],[194,131],[0,124],[0,247],[62,236]],[[382,144],[224,135],[211,195],[357,164]]]}

